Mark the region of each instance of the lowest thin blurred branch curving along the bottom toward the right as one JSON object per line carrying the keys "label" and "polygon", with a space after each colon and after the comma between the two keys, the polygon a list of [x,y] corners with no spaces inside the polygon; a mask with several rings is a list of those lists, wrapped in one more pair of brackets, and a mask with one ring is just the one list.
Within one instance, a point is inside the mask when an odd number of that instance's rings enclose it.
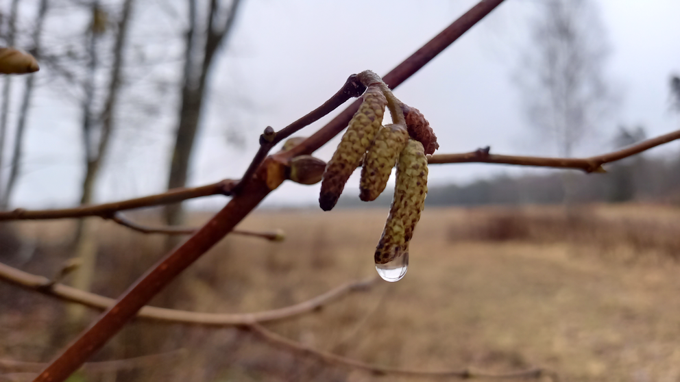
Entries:
{"label": "lowest thin blurred branch curving along the bottom toward the right", "polygon": [[260,324],[250,324],[247,328],[256,333],[260,338],[266,340],[267,342],[283,348],[286,351],[291,351],[293,353],[299,353],[309,357],[314,357],[326,364],[332,364],[336,366],[343,366],[353,369],[363,370],[376,375],[393,375],[398,377],[419,377],[419,378],[456,378],[456,379],[473,379],[473,378],[484,378],[484,379],[540,379],[544,376],[550,377],[555,381],[555,373],[542,368],[531,368],[529,370],[522,370],[518,372],[507,372],[507,373],[490,373],[482,372],[479,370],[441,370],[441,371],[431,371],[431,370],[410,370],[401,368],[389,368],[386,366],[377,366],[372,364],[365,364],[364,362],[357,361],[356,359],[350,359],[336,355],[333,353],[328,353],[325,351],[315,350],[309,346],[304,346],[298,342],[289,340],[288,338],[278,335],[269,329],[265,329]]}

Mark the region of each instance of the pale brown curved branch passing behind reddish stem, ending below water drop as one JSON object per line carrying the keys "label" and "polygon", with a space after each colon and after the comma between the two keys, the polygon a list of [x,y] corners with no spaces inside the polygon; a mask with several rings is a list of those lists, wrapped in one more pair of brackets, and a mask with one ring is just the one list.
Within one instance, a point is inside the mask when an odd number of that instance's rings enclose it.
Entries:
{"label": "pale brown curved branch passing behind reddish stem, ending below water drop", "polygon": [[[51,280],[47,279],[47,277],[32,275],[2,263],[0,263],[0,279],[25,290],[40,292],[47,296],[59,298],[62,301],[85,305],[86,307],[93,309],[108,309],[108,307],[111,307],[115,303],[113,298],[85,292],[84,290],[72,288],[68,285],[59,283],[50,285]],[[256,313],[200,313],[196,311],[145,306],[140,309],[136,318],[171,324],[190,324],[210,327],[230,327],[234,325],[252,324],[254,322],[287,320],[295,316],[315,311],[316,309],[319,309],[319,307],[328,305],[346,294],[367,290],[376,280],[375,277],[372,277],[361,281],[352,281],[340,285],[337,288],[333,288],[324,294],[319,294],[319,296],[307,301],[303,301],[302,303]]]}

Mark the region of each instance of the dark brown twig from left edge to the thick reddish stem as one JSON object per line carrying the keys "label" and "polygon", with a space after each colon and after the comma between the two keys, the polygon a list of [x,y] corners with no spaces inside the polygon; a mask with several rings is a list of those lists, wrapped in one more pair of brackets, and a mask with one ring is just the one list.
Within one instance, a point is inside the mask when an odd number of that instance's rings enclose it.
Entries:
{"label": "dark brown twig from left edge to the thick reddish stem", "polygon": [[207,186],[193,188],[175,188],[162,194],[143,196],[141,198],[129,199],[98,205],[82,205],[80,207],[65,209],[38,209],[29,210],[17,208],[13,211],[0,212],[0,221],[3,220],[44,220],[62,218],[82,218],[85,216],[108,217],[118,211],[125,209],[135,209],[141,207],[153,207],[177,203],[186,199],[200,198],[210,195],[230,195],[236,181],[225,179]]}

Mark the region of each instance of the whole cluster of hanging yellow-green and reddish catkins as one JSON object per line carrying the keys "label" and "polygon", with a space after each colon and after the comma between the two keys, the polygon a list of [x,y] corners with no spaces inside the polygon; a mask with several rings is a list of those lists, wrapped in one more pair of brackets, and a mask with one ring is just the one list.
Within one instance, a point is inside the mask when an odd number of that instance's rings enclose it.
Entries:
{"label": "whole cluster of hanging yellow-green and reddish catkins", "polygon": [[[398,258],[408,259],[409,241],[427,194],[426,153],[432,153],[439,145],[424,116],[396,99],[380,77],[372,72],[357,77],[367,90],[326,166],[319,204],[325,211],[332,209],[361,163],[359,197],[362,201],[374,201],[385,190],[396,165],[392,205],[375,253],[376,264],[382,265]],[[395,123],[382,126],[386,106]]]}

